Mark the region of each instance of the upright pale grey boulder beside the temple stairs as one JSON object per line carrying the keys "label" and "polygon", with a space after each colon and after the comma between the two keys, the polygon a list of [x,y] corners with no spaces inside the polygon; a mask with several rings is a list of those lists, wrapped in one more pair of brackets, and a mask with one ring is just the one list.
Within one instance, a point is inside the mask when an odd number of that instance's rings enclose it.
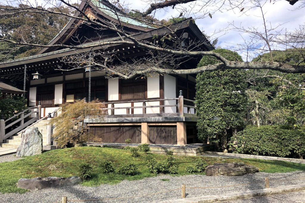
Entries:
{"label": "upright pale grey boulder beside the temple stairs", "polygon": [[42,135],[38,128],[27,129],[21,137],[16,157],[32,156],[42,153]]}

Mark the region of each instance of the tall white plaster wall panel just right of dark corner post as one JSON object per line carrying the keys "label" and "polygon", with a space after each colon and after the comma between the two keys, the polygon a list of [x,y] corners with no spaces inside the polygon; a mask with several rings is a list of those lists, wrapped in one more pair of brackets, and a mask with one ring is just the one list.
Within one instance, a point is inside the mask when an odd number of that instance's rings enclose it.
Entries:
{"label": "tall white plaster wall panel just right of dark corner post", "polygon": [[[170,75],[164,75],[164,99],[176,98],[176,78]],[[164,101],[164,105],[174,105],[175,100]],[[177,113],[176,107],[165,107],[165,113]]]}

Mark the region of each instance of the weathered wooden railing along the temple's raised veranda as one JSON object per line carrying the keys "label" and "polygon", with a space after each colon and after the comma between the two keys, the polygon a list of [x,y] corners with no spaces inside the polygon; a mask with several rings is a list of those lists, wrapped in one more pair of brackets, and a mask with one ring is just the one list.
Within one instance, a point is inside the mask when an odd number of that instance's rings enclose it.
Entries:
{"label": "weathered wooden railing along the temple's raised veranda", "polygon": [[[156,102],[156,101],[160,101],[160,105],[150,105],[147,106],[147,103],[149,102]],[[168,104],[168,105],[164,105],[164,101],[175,101],[175,104]],[[114,107],[115,104],[120,104],[120,103],[143,103],[142,106],[138,106],[135,107],[133,105],[131,105],[131,107]],[[184,104],[184,103],[187,103]],[[182,90],[180,90],[179,92],[179,97],[178,98],[171,98],[171,99],[151,99],[151,100],[126,100],[126,101],[115,101],[115,102],[107,102],[105,103],[107,106],[111,105],[111,107],[107,107],[107,108],[102,108],[102,110],[111,110],[109,115],[115,115],[115,110],[121,110],[121,109],[126,109],[126,114],[124,115],[128,115],[128,114],[134,114],[133,113],[133,109],[142,109],[142,114],[147,114],[147,109],[148,108],[160,108],[160,114],[164,113],[165,107],[176,107],[177,108],[177,113],[179,114],[180,117],[184,116],[184,107],[187,108],[187,114],[196,114],[196,106],[195,106],[195,101],[193,100],[188,100],[188,99],[184,99],[183,95],[182,95]],[[194,113],[191,113],[191,109],[194,109]]]}

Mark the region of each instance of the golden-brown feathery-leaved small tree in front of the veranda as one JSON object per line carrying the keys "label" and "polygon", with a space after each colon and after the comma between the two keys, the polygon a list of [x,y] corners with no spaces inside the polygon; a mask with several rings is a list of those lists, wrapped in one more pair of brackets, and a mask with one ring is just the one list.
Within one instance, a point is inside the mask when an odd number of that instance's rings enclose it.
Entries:
{"label": "golden-brown feathery-leaved small tree in front of the veranda", "polygon": [[[57,146],[65,147],[67,143],[82,146],[90,138],[94,141],[101,142],[102,140],[99,140],[90,134],[88,128],[85,128],[84,125],[81,124],[84,123],[86,115],[103,118],[101,116],[102,105],[103,104],[98,103],[96,100],[91,102],[77,100],[74,103],[65,103],[61,105],[62,109],[59,110],[61,113],[50,121],[51,124],[56,126],[53,137],[56,138]],[[75,126],[77,126],[77,130],[73,130]]]}

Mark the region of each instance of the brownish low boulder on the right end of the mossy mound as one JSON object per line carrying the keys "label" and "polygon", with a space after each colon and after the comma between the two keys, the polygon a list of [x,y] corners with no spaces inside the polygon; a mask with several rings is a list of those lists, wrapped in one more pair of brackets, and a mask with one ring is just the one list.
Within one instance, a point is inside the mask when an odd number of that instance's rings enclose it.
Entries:
{"label": "brownish low boulder on the right end of the mossy mound", "polygon": [[256,173],[258,168],[245,165],[243,162],[233,163],[215,163],[206,167],[207,176],[243,176],[247,173]]}

